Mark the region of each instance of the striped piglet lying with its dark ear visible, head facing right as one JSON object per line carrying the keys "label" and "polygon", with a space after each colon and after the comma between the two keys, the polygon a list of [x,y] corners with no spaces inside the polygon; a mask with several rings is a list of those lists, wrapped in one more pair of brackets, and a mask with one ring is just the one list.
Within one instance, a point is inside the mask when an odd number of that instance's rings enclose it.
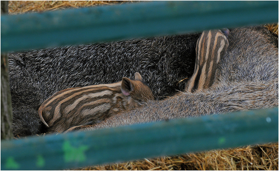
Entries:
{"label": "striped piglet lying with its dark ear visible, head facing right", "polygon": [[[39,107],[48,132],[64,132],[75,127],[101,122],[120,111],[154,100],[150,88],[136,72],[135,80],[123,77],[112,84],[75,87],[56,92]],[[73,127],[73,128],[72,128]]]}

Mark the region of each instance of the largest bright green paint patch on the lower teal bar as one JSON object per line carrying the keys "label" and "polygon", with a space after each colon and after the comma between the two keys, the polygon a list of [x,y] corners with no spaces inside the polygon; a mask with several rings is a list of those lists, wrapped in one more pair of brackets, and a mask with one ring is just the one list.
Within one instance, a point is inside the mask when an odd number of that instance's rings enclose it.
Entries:
{"label": "largest bright green paint patch on the lower teal bar", "polygon": [[88,146],[82,145],[79,147],[71,146],[70,141],[63,143],[64,160],[65,162],[83,162],[86,159],[85,151],[88,150]]}

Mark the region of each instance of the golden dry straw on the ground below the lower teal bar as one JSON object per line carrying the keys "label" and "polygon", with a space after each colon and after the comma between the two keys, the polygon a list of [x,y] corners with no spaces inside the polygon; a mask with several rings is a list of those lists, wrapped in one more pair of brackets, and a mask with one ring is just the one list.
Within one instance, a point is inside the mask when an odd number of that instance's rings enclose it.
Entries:
{"label": "golden dry straw on the ground below the lower teal bar", "polygon": [[75,170],[278,170],[278,143],[144,158]]}

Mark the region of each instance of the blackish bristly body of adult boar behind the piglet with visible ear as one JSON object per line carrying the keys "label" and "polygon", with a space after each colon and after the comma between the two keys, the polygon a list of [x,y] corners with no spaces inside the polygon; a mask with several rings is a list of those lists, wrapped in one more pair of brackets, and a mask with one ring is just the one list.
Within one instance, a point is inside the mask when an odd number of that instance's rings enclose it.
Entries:
{"label": "blackish bristly body of adult boar behind the piglet with visible ear", "polygon": [[163,99],[182,90],[194,70],[200,34],[132,39],[8,53],[13,107],[13,134],[42,132],[38,109],[55,92],[113,83],[140,71]]}

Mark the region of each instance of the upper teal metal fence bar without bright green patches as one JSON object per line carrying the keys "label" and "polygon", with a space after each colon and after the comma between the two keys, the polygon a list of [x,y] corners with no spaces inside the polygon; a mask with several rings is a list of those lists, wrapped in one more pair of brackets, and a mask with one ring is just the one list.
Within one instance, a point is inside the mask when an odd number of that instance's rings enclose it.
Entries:
{"label": "upper teal metal fence bar without bright green patches", "polygon": [[1,15],[1,52],[278,22],[278,1],[154,1]]}

